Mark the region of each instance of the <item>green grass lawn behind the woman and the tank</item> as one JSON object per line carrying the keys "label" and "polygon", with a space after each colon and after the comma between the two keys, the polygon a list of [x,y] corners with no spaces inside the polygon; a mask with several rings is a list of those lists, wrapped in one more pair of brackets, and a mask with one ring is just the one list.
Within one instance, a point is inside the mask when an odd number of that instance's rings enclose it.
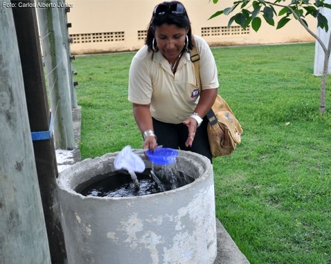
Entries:
{"label": "green grass lawn behind the woman and the tank", "polygon": [[[255,263],[331,263],[331,99],[319,114],[314,44],[213,48],[219,93],[244,127],[215,158],[216,214]],[[80,151],[93,158],[143,140],[127,101],[134,53],[76,57]]]}

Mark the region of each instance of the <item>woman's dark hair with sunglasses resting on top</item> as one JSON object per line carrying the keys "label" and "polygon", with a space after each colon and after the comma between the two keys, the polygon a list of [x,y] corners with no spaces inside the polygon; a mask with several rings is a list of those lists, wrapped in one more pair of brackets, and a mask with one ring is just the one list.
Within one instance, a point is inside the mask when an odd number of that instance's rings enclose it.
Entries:
{"label": "woman's dark hair with sunglasses resting on top", "polygon": [[[184,6],[181,2],[179,1],[165,1],[161,4],[165,6],[170,6],[172,4],[179,3],[182,6]],[[152,45],[153,45],[153,39],[155,35],[155,28],[157,26],[162,26],[164,23],[168,25],[176,25],[179,28],[185,28],[188,29],[188,49],[192,50],[193,48],[193,35],[192,35],[192,29],[190,26],[190,19],[188,19],[188,15],[185,11],[184,15],[173,15],[170,12],[165,13],[165,15],[161,15],[159,17],[154,16],[154,10],[153,10],[153,15],[152,19],[150,20],[150,23],[147,28],[147,37],[145,39],[145,44],[148,46],[148,51],[153,50]]]}

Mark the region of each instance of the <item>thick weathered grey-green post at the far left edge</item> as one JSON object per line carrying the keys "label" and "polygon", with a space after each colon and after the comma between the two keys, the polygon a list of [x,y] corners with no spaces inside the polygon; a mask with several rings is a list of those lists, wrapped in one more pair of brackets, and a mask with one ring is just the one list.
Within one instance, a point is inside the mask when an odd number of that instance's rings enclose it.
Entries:
{"label": "thick weathered grey-green post at the far left edge", "polygon": [[[10,2],[7,2],[10,3]],[[0,0],[0,262],[51,263],[12,9]]]}

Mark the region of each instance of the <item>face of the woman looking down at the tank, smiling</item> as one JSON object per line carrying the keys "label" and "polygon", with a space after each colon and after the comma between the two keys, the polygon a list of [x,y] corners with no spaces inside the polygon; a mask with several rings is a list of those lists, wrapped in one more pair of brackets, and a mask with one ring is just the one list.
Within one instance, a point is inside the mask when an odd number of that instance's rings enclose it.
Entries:
{"label": "face of the woman looking down at the tank, smiling", "polygon": [[156,44],[169,62],[175,62],[185,46],[188,30],[164,23],[155,28]]}

